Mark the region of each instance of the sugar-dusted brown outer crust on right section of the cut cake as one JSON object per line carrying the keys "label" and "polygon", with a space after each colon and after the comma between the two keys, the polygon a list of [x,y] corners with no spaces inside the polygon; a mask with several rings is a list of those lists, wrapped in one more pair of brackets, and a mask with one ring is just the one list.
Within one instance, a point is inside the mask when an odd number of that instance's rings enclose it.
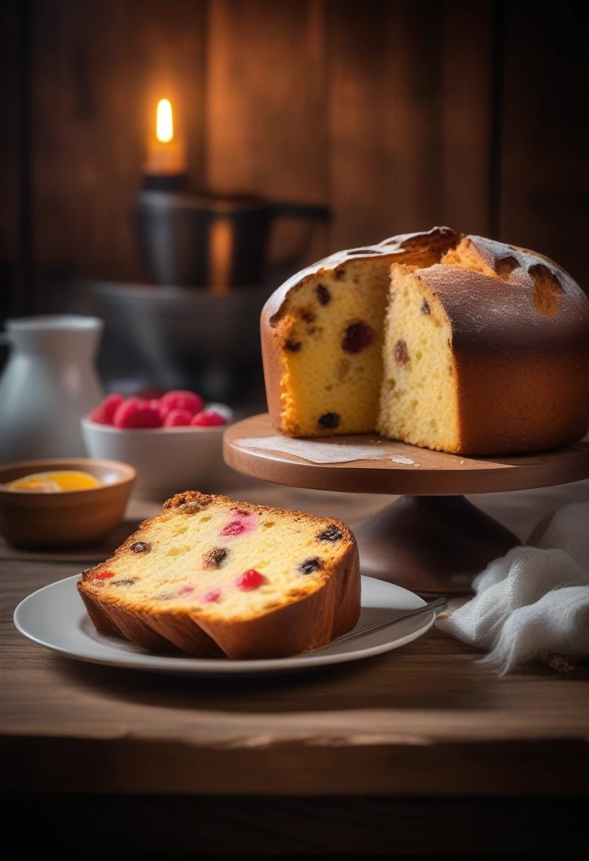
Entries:
{"label": "sugar-dusted brown outer crust on right section of the cut cake", "polygon": [[[460,265],[462,246],[462,262],[472,268]],[[524,454],[585,435],[589,302],[564,269],[467,237],[443,263],[417,274],[452,328],[461,454]]]}

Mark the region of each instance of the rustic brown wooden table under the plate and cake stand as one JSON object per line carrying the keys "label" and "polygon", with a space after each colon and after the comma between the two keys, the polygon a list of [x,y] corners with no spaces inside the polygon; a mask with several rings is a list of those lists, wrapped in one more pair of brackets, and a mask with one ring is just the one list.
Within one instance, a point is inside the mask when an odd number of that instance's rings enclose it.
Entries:
{"label": "rustic brown wooden table under the plate and cake stand", "polygon": [[[329,513],[352,528],[392,499],[229,470],[211,489]],[[557,505],[589,499],[589,481],[469,499],[525,539]],[[134,503],[129,523],[153,511]],[[505,827],[528,822],[510,844],[525,833],[526,851],[576,834],[574,799],[589,789],[586,667],[559,675],[528,666],[498,678],[472,649],[431,629],[398,651],[301,675],[177,678],[84,664],[18,634],[12,613],[22,598],[108,552],[108,542],[63,554],[0,547],[0,790],[9,810],[42,797],[47,821],[66,823],[56,846],[83,839],[99,812],[129,851],[194,851],[185,823],[194,838],[195,810],[203,852],[392,852],[391,829],[397,851],[431,851],[433,840],[474,851],[477,840],[488,848],[499,839],[500,828],[492,838],[484,825],[490,811]],[[94,799],[90,812],[80,794]],[[555,802],[565,796],[564,807]],[[456,803],[470,824],[444,831]]]}

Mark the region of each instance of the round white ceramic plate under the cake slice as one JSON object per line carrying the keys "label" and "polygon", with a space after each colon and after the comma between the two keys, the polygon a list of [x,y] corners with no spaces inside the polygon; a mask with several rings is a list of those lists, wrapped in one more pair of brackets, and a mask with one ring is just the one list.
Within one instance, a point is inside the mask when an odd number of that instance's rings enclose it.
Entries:
{"label": "round white ceramic plate under the cake slice", "polygon": [[[79,575],[67,577],[34,592],[15,610],[15,625],[21,634],[40,646],[93,664],[125,666],[137,670],[189,675],[222,676],[307,670],[316,666],[342,664],[388,652],[425,634],[435,614],[414,616],[357,640],[271,660],[201,659],[182,655],[157,655],[115,635],[98,634],[86,615],[76,583]],[[394,612],[412,610],[425,604],[423,598],[400,586],[372,577],[362,578],[362,612],[358,628],[379,622]]]}

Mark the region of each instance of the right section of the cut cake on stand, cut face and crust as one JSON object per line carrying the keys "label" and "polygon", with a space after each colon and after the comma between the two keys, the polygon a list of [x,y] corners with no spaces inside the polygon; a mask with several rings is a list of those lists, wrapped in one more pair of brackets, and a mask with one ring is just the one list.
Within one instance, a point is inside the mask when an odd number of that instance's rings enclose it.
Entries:
{"label": "right section of the cut cake on stand, cut face and crust", "polygon": [[589,301],[534,251],[469,236],[426,268],[391,267],[377,430],[463,455],[580,440]]}

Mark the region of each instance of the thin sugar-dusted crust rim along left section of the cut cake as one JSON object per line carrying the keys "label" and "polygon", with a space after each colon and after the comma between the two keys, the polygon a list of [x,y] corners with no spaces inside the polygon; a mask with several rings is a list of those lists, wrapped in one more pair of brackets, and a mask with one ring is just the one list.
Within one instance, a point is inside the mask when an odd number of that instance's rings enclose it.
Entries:
{"label": "thin sugar-dusted crust rim along left section of the cut cake", "polygon": [[383,258],[391,263],[415,263],[429,266],[437,263],[443,253],[456,245],[459,237],[449,227],[433,227],[427,232],[405,233],[384,239],[378,245],[366,245],[338,251],[331,257],[302,269],[282,284],[266,302],[260,318],[263,375],[270,421],[276,431],[288,435],[291,431],[282,420],[281,380],[286,373],[284,338],[280,321],[288,313],[289,300],[308,282],[320,281],[325,275],[342,273],[350,262],[355,263],[356,275],[370,276],[375,266],[381,267]]}

